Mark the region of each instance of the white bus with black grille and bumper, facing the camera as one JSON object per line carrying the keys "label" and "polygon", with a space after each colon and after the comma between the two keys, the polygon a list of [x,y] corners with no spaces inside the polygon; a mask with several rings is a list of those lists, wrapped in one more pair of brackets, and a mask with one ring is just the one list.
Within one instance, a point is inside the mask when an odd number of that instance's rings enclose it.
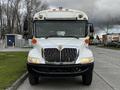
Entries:
{"label": "white bus with black grille and bumper, facing the camera", "polygon": [[33,49],[28,54],[27,69],[31,85],[42,77],[82,76],[90,85],[94,57],[88,48],[89,25],[87,15],[72,9],[48,9],[33,17]]}

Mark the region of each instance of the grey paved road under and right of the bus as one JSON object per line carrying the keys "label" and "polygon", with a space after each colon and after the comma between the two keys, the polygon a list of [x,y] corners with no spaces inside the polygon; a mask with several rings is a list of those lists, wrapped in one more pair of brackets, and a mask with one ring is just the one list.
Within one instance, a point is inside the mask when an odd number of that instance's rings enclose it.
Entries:
{"label": "grey paved road under and right of the bus", "polygon": [[93,82],[82,84],[81,77],[42,78],[39,84],[31,86],[28,78],[18,90],[120,90],[120,51],[90,47],[95,57]]}

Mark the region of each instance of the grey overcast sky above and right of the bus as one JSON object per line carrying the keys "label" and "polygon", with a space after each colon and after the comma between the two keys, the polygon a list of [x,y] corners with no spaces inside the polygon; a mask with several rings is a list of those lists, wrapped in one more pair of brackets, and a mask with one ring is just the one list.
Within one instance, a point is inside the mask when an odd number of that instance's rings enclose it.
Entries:
{"label": "grey overcast sky above and right of the bus", "polygon": [[[65,7],[82,10],[89,20],[96,23],[120,24],[120,0],[45,0],[49,7]],[[119,22],[119,23],[118,23]],[[99,24],[98,23],[98,24]],[[118,29],[118,28],[117,28]],[[113,30],[115,31],[115,30]],[[105,31],[102,31],[103,33]],[[119,30],[120,32],[120,30]],[[98,31],[101,33],[101,30]]]}

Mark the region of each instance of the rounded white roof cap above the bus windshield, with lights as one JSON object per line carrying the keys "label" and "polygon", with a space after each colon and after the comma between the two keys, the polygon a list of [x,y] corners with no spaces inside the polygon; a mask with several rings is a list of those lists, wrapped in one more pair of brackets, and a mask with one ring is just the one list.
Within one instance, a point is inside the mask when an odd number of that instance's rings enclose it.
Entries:
{"label": "rounded white roof cap above the bus windshield, with lights", "polygon": [[79,10],[59,8],[37,12],[33,20],[88,20],[88,16]]}

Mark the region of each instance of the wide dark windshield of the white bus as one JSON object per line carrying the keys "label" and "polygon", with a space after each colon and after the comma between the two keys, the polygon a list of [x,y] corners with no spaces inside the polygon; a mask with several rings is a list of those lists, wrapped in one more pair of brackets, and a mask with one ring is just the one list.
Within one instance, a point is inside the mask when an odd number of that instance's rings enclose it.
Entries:
{"label": "wide dark windshield of the white bus", "polygon": [[36,21],[36,37],[85,36],[85,21]]}

